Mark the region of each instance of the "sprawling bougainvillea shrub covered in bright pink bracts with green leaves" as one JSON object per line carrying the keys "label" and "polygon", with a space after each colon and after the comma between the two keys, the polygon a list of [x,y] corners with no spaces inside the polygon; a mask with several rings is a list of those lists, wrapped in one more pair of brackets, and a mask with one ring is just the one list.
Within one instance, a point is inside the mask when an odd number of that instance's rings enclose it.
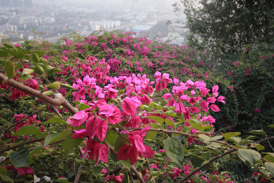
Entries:
{"label": "sprawling bougainvillea shrub covered in bright pink bracts with green leaves", "polygon": [[[3,97],[25,100],[27,111],[35,113],[16,115],[15,121],[22,120],[18,124],[24,125],[1,131],[0,176],[4,181],[38,182],[46,176],[46,181],[59,182],[231,183],[232,173],[222,167],[222,162],[231,159],[241,159],[262,178],[271,179],[273,156],[262,154],[261,143],[273,137],[257,140],[241,138],[240,132],[216,134],[218,120],[209,112],[220,112],[218,105],[225,105],[226,97],[219,94],[217,84],[209,87],[197,80],[211,75],[184,69],[192,76],[184,81],[174,75],[179,68],[165,72],[164,66],[186,63],[195,70],[190,56],[184,62],[170,61],[190,48],[179,51],[168,45],[163,55],[159,50],[164,46],[146,38],[106,34],[86,37],[81,43],[64,39],[61,55],[48,51],[45,56],[44,51],[4,44],[0,52],[5,58],[0,74]],[[88,47],[98,49],[87,53]],[[144,62],[132,62],[136,53]],[[121,54],[126,55],[124,59]],[[148,64],[142,71],[149,74],[134,74],[142,63]],[[112,70],[119,64],[127,65],[124,70]],[[205,63],[199,65],[205,67]],[[12,97],[18,91],[20,95]],[[250,133],[267,135],[263,130]],[[23,171],[30,176],[21,177]]]}

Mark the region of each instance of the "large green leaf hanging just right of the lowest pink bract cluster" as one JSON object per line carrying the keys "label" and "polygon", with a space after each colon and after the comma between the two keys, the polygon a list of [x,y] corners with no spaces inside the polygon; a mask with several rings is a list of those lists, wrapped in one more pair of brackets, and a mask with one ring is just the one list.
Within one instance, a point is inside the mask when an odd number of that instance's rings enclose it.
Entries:
{"label": "large green leaf hanging just right of the lowest pink bract cluster", "polygon": [[184,163],[184,146],[175,137],[168,137],[165,139],[163,148],[165,150],[166,156],[177,163],[180,167]]}

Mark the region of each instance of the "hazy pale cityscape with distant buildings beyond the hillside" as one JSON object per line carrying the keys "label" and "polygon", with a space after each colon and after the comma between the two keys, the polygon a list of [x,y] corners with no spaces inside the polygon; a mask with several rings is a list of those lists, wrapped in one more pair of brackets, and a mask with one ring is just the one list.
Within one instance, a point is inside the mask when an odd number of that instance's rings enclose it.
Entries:
{"label": "hazy pale cityscape with distant buildings beyond the hillside", "polygon": [[20,41],[55,40],[77,32],[136,32],[151,39],[181,37],[176,22],[176,0],[0,0],[0,39]]}

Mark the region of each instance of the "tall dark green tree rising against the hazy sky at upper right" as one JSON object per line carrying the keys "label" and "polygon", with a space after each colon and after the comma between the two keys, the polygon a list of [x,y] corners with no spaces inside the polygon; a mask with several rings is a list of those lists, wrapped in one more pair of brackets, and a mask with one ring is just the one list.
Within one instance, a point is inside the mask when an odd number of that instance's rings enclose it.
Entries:
{"label": "tall dark green tree rising against the hazy sky at upper right", "polygon": [[271,43],[274,37],[272,0],[181,0],[191,46],[224,54],[237,54],[243,45]]}

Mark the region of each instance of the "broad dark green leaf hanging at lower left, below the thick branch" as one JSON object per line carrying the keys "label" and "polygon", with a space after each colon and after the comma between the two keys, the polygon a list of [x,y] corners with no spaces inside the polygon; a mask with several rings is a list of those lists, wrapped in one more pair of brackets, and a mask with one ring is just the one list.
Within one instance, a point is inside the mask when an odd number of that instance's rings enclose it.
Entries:
{"label": "broad dark green leaf hanging at lower left, below the thick branch", "polygon": [[22,145],[10,154],[12,164],[16,168],[29,167],[29,149]]}

